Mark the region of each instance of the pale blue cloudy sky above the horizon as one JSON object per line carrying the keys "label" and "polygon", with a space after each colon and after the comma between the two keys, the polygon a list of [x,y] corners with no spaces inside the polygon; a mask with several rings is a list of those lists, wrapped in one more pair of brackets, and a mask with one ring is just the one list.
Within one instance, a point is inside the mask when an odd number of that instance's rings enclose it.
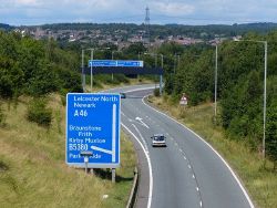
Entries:
{"label": "pale blue cloudy sky above the horizon", "polygon": [[151,24],[277,22],[277,0],[0,0],[0,23],[137,23],[150,8]]}

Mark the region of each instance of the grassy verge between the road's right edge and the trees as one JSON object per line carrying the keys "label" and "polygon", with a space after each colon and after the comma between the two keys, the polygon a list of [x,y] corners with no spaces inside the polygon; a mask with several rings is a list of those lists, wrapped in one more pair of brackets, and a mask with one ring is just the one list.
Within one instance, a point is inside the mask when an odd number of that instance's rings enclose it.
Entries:
{"label": "grassy verge between the road's right edge and the trees", "polygon": [[151,97],[151,102],[212,144],[237,173],[256,207],[277,207],[277,173],[273,169],[273,163],[266,160],[265,166],[258,150],[252,150],[239,138],[228,139],[224,129],[212,122],[213,104],[183,107],[162,97]]}

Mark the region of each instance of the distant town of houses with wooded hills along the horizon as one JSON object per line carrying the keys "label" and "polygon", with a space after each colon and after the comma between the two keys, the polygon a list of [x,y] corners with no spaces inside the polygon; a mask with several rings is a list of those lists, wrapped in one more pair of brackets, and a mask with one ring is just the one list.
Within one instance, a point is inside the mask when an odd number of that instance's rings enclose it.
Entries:
{"label": "distant town of houses with wooded hills along the horizon", "polygon": [[[6,29],[10,25],[6,25]],[[147,31],[147,27],[148,31]],[[1,28],[1,27],[0,27]],[[240,39],[242,35],[256,32],[265,34],[277,30],[276,23],[249,23],[233,25],[146,25],[126,23],[57,23],[32,27],[10,27],[9,30],[30,35],[35,40],[53,39],[62,43],[113,44],[119,50],[130,44],[150,42],[158,48],[164,42],[175,42],[179,45],[217,44],[225,40]]]}

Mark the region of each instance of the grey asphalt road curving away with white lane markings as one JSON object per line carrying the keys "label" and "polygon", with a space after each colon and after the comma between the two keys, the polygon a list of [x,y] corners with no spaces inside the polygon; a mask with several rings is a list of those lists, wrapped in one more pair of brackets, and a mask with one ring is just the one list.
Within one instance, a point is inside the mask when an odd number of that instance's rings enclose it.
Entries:
{"label": "grey asphalt road curving away with white lane markings", "polygon": [[[226,162],[198,135],[148,106],[143,97],[151,85],[131,86],[122,98],[121,122],[134,138],[141,184],[136,207],[245,208],[254,207]],[[167,147],[151,145],[164,134]]]}

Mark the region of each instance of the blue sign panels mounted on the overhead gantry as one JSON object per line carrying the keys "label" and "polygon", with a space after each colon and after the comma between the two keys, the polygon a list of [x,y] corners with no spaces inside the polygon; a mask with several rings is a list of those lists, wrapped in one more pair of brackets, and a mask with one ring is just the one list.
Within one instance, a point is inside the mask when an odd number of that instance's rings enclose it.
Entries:
{"label": "blue sign panels mounted on the overhead gantry", "polygon": [[121,66],[121,67],[143,67],[143,61],[132,60],[90,60],[89,66]]}

